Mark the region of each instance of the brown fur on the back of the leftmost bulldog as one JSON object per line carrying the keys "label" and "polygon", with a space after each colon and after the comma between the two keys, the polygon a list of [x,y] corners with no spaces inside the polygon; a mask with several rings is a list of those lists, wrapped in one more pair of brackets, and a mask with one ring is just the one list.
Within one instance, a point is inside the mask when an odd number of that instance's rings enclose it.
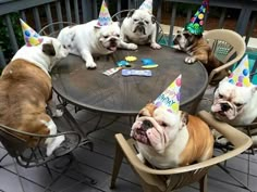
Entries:
{"label": "brown fur on the back of the leftmost bulldog", "polygon": [[[51,79],[24,60],[7,65],[0,78],[0,124],[39,135],[49,135],[40,120],[49,121],[46,102],[51,99]],[[24,138],[28,140],[28,138]],[[35,141],[28,140],[30,145]]]}

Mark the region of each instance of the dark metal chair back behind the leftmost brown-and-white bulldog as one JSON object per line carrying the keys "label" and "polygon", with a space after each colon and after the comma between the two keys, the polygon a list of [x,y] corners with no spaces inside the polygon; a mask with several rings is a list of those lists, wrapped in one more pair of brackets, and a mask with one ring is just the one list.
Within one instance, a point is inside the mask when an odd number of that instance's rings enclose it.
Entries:
{"label": "dark metal chair back behind the leftmost brown-and-white bulldog", "polygon": [[[47,156],[45,140],[60,136],[65,137],[64,142],[53,152],[52,155]],[[27,142],[25,138],[33,140],[33,144]],[[44,136],[0,125],[0,141],[9,155],[14,157],[19,165],[28,168],[44,165],[49,161],[69,154],[81,143],[81,136],[75,131]]]}

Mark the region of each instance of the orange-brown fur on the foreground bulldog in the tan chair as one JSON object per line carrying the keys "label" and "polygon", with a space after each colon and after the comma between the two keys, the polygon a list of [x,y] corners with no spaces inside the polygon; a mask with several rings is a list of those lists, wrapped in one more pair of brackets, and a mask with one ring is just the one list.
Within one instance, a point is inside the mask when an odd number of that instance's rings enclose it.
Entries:
{"label": "orange-brown fur on the foreground bulldog in the tan chair", "polygon": [[180,166],[203,162],[210,158],[213,153],[213,136],[206,123],[196,116],[188,115],[187,130],[189,140],[180,155],[182,159]]}

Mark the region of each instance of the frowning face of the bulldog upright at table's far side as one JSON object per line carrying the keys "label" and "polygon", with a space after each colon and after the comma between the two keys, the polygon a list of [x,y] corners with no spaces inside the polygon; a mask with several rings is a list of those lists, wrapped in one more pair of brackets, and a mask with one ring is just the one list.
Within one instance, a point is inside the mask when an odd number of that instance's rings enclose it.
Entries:
{"label": "frowning face of the bulldog upright at table's far side", "polygon": [[156,23],[155,16],[145,10],[132,10],[127,17],[131,18],[132,31],[138,36],[150,35],[152,25]]}

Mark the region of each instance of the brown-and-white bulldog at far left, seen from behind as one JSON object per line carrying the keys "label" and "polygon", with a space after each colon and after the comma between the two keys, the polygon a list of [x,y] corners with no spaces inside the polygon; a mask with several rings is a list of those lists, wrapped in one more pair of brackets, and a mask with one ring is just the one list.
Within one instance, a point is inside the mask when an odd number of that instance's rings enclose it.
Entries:
{"label": "brown-and-white bulldog at far left, seen from behind", "polygon": [[[5,66],[0,78],[0,124],[38,135],[56,135],[57,126],[46,113],[49,105],[53,116],[61,116],[52,98],[50,68],[69,52],[56,38],[42,37],[35,47],[22,47]],[[19,136],[21,137],[21,136]],[[37,141],[24,138],[29,146]],[[64,137],[45,140],[46,154],[64,141]]]}

